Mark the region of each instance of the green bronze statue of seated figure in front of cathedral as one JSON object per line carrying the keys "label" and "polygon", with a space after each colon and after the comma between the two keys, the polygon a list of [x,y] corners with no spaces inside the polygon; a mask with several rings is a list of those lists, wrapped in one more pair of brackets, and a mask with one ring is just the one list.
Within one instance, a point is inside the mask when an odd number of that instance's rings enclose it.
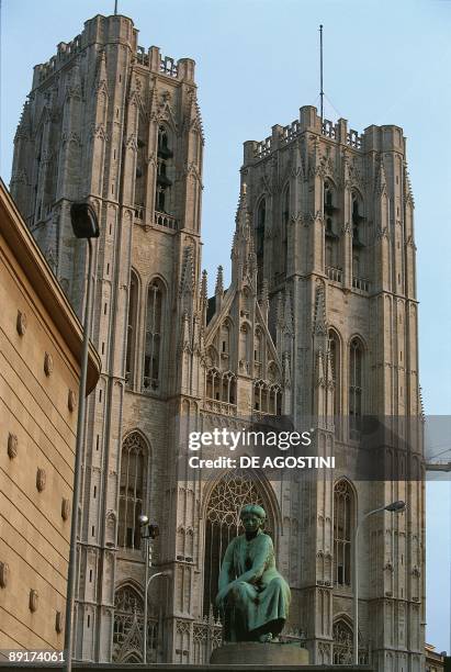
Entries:
{"label": "green bronze statue of seated figure in front of cathedral", "polygon": [[245,534],[224,556],[216,604],[225,641],[273,641],[289,615],[290,587],[275,569],[272,539],[262,530],[266,517],[261,506],[244,506]]}

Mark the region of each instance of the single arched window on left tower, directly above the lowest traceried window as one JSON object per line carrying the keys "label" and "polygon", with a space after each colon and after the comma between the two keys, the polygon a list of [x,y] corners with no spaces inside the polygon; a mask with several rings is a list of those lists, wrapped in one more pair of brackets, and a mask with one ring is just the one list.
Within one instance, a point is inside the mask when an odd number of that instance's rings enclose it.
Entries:
{"label": "single arched window on left tower, directly above the lowest traceried window", "polygon": [[119,539],[124,548],[140,548],[138,516],[147,484],[147,449],[139,434],[129,434],[121,453],[121,480],[119,493]]}

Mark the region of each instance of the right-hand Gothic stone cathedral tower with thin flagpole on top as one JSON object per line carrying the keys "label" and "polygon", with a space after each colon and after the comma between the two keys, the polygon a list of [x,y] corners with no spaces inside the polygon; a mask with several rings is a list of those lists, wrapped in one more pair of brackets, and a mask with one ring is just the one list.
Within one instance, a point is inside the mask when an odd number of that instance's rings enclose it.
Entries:
{"label": "right-hand Gothic stone cathedral tower with thin flagpole on top", "polygon": [[[405,500],[405,514],[379,514],[363,533],[361,638],[379,669],[419,670],[424,493],[415,428],[421,407],[414,202],[402,128],[370,126],[359,135],[343,119],[332,124],[315,108],[301,108],[292,124],[245,143],[241,182],[273,334],[278,305],[286,294],[292,300],[295,422],[314,416],[318,452],[347,456],[347,469],[334,481],[318,480],[301,505],[306,551],[298,587],[307,640],[315,639],[316,662],[340,662],[338,641],[352,628],[354,526],[367,511]],[[359,482],[368,415],[393,418],[388,424],[401,433],[408,421],[409,449],[395,459],[410,460],[413,480]],[[308,525],[306,512],[316,525]]]}

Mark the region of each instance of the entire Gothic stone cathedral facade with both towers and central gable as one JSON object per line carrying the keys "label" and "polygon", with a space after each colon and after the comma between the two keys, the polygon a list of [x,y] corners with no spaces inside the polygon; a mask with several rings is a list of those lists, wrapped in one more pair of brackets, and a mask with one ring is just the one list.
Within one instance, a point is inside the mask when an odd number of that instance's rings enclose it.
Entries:
{"label": "entire Gothic stone cathedral facade with both towers and central gable", "polygon": [[[69,231],[72,199],[89,199],[102,232],[92,332],[102,376],[87,425],[75,656],[140,660],[145,512],[162,528],[154,562],[172,572],[151,584],[148,660],[206,662],[221,640],[218,540],[257,500],[293,593],[287,637],[304,639],[314,663],[349,662],[358,513],[405,500],[405,514],[379,514],[362,534],[361,660],[419,671],[421,449],[414,480],[362,481],[357,468],[363,415],[421,415],[403,132],[358,135],[305,107],[245,143],[232,283],[225,291],[219,268],[210,300],[202,149],[194,63],[145,52],[125,16],[93,18],[35,67],[11,189],[77,310],[86,268]],[[315,449],[346,468],[315,482],[211,482],[181,469],[189,429],[280,414],[295,426],[316,418]]]}

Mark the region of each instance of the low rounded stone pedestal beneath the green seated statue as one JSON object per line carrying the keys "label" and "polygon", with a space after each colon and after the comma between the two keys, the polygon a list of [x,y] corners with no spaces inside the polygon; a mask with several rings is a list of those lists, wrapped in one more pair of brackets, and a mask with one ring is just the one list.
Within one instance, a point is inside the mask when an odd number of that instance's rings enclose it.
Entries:
{"label": "low rounded stone pedestal beneath the green seated statue", "polygon": [[308,651],[298,643],[238,641],[215,649],[212,665],[308,665]]}

